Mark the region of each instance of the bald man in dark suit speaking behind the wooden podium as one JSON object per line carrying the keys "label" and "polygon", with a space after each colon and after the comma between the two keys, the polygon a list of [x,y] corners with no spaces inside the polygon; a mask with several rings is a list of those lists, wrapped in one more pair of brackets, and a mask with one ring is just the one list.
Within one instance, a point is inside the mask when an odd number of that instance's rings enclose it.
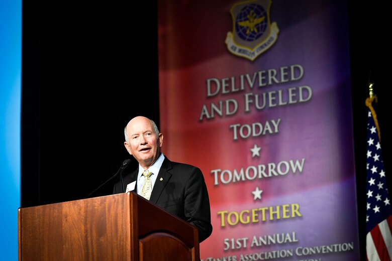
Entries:
{"label": "bald man in dark suit speaking behind the wooden podium", "polygon": [[[143,116],[131,119],[124,128],[125,148],[138,162],[137,170],[123,179],[126,192],[142,195],[144,180],[151,181],[150,202],[199,229],[199,242],[212,233],[210,200],[202,171],[194,166],[172,162],[160,151],[163,134],[155,122]],[[148,170],[151,176],[143,176]],[[115,184],[113,194],[122,193],[121,182]]]}

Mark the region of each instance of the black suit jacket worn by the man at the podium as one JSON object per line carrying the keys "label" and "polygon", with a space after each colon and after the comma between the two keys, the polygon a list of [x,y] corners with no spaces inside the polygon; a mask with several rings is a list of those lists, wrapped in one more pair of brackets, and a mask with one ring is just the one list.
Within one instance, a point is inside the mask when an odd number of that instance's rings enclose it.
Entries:
{"label": "black suit jacket worn by the man at the podium", "polygon": [[[124,191],[127,184],[137,182],[137,174],[138,169],[124,176]],[[135,193],[136,188],[137,184]],[[121,183],[116,183],[113,194],[122,191]],[[152,189],[150,202],[197,227],[199,242],[211,235],[210,199],[203,173],[199,168],[171,162],[165,157]]]}

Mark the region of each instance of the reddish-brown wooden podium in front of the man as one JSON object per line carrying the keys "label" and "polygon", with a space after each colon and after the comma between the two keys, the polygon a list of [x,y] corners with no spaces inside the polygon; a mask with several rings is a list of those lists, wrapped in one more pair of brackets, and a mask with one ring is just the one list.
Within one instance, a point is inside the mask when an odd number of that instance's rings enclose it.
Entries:
{"label": "reddish-brown wooden podium in front of the man", "polygon": [[133,192],[18,211],[19,261],[200,260],[197,228]]}

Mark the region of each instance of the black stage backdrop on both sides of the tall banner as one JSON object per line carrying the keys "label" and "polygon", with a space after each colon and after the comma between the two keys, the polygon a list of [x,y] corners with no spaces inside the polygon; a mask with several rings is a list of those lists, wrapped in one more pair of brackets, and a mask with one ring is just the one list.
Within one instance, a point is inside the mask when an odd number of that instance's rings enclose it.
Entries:
{"label": "black stage backdrop on both sides of the tall banner", "polygon": [[[370,70],[379,100],[376,112],[387,178],[390,169],[389,77],[378,62],[389,53],[385,32],[379,29],[386,25],[387,9],[377,2],[359,6],[353,1],[348,8],[361,228]],[[159,126],[156,17],[154,2],[23,3],[23,207],[84,198],[130,158],[123,145],[123,128],[130,118],[146,115]],[[135,160],[132,164],[136,168]],[[91,196],[111,194],[115,181]],[[364,231],[359,232],[364,244]]]}

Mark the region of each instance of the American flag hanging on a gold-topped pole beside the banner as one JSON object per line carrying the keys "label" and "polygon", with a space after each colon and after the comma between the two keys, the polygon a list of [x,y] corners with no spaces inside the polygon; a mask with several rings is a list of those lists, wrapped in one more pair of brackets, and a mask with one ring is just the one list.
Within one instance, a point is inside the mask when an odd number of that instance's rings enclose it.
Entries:
{"label": "American flag hanging on a gold-topped pole beside the banner", "polygon": [[[392,208],[390,206],[376,114],[370,101],[366,155],[366,257],[392,260]],[[372,112],[373,111],[373,112]]]}

